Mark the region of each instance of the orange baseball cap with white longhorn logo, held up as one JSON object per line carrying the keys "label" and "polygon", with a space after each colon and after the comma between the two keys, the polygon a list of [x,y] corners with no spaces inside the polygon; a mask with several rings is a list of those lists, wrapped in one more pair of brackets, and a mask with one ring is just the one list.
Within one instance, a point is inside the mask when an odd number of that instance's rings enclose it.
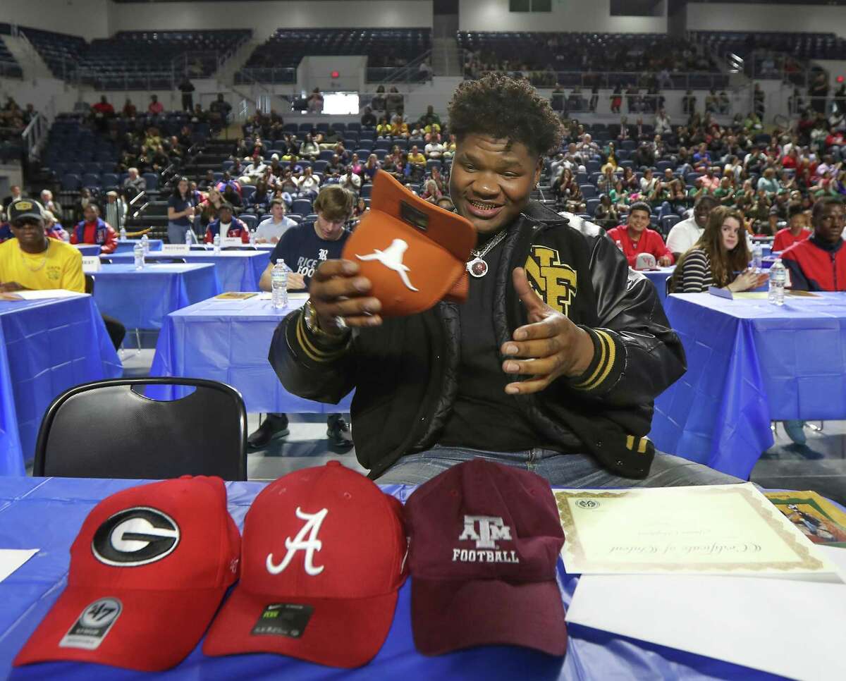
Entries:
{"label": "orange baseball cap with white longhorn logo, held up", "polygon": [[439,300],[467,298],[467,261],[476,231],[464,217],[376,173],[371,209],[343,246],[382,302],[382,316],[413,315]]}

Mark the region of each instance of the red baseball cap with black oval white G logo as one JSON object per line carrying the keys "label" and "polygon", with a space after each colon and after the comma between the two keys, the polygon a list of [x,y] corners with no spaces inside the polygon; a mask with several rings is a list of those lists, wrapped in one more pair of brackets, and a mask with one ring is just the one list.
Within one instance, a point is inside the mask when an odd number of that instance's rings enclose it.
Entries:
{"label": "red baseball cap with black oval white G logo", "polygon": [[14,664],[174,667],[238,578],[239,547],[220,478],[184,476],[103,499],[70,547],[67,587]]}

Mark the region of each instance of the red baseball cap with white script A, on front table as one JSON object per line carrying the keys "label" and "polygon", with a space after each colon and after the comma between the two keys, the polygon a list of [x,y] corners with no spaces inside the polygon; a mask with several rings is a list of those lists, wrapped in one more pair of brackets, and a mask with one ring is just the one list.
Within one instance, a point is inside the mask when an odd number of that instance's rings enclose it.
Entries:
{"label": "red baseball cap with white script A, on front table", "polygon": [[391,628],[407,547],[402,505],[364,475],[330,461],[279,478],[244,519],[241,580],[203,652],[360,667]]}

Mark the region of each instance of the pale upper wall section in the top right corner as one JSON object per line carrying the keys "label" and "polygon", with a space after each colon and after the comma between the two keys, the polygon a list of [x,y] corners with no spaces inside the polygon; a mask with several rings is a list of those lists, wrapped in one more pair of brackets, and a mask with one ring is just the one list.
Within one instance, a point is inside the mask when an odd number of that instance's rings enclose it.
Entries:
{"label": "pale upper wall section in the top right corner", "polygon": [[846,7],[688,3],[688,30],[783,30],[846,36]]}

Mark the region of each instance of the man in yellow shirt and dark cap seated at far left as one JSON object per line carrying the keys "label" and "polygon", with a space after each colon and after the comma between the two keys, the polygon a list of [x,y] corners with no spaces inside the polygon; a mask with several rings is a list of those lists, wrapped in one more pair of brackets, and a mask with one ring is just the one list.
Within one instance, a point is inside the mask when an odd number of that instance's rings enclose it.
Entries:
{"label": "man in yellow shirt and dark cap seated at far left", "polygon": [[[18,199],[8,206],[14,239],[0,244],[0,293],[64,288],[85,293],[80,250],[58,239],[47,239],[44,209],[36,200]],[[103,315],[115,349],[124,342],[126,327]]]}

